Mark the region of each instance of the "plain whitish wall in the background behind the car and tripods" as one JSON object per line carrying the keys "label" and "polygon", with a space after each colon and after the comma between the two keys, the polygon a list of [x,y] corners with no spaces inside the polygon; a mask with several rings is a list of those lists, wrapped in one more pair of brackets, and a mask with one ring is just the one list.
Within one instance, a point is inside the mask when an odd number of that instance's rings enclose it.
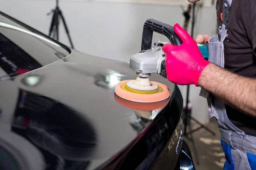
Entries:
{"label": "plain whitish wall in the background behind the car and tripods", "polygon": [[[148,3],[149,2],[149,3]],[[204,0],[198,11],[194,37],[197,34],[213,36],[216,31],[215,3]],[[129,62],[130,56],[140,51],[145,20],[153,18],[173,25],[183,26],[182,8],[186,0],[60,0],[75,48],[87,54]],[[2,0],[0,10],[48,34],[55,0]],[[190,33],[190,25],[189,30]],[[154,34],[154,40],[166,40]],[[60,25],[60,41],[70,45]],[[198,96],[200,88],[190,86],[192,115],[202,123],[209,122],[206,99]],[[180,86],[184,101],[186,86]]]}

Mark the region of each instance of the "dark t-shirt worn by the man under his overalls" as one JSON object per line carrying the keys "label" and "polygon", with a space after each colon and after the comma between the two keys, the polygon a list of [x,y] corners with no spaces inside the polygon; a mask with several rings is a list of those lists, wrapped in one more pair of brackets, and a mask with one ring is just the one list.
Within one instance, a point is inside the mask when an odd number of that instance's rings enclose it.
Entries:
{"label": "dark t-shirt worn by the man under his overalls", "polygon": [[[222,25],[222,6],[223,0],[217,0],[218,26]],[[227,34],[225,68],[244,77],[256,78],[256,0],[232,0]],[[247,135],[256,136],[256,118],[228,105],[226,110],[230,122]]]}

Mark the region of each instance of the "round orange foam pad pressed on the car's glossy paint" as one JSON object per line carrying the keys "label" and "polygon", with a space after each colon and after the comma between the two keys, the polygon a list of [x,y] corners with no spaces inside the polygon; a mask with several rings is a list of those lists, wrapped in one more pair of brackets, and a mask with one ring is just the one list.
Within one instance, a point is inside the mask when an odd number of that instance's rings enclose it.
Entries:
{"label": "round orange foam pad pressed on the car's glossy paint", "polygon": [[123,80],[116,85],[115,93],[117,96],[126,100],[130,100],[132,102],[141,102],[141,103],[160,102],[162,100],[169,98],[170,96],[170,91],[168,87],[162,83],[151,81],[152,83],[158,85],[160,90],[154,94],[148,94],[148,93],[143,94],[143,93],[136,93],[136,91],[135,92],[129,91],[129,89],[125,89],[124,88],[125,84],[129,81],[132,81],[132,80]]}

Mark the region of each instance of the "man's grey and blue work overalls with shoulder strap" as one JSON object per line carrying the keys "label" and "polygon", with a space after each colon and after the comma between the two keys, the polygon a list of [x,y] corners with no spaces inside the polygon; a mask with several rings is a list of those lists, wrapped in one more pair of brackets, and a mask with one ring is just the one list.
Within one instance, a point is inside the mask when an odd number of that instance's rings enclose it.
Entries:
{"label": "man's grey and blue work overalls with shoulder strap", "polygon": [[[224,40],[232,0],[224,0],[223,20],[219,33],[209,40],[209,62],[224,68]],[[224,170],[256,170],[256,137],[249,136],[233,125],[227,117],[225,104],[205,89],[200,96],[207,99],[210,117],[215,116],[221,132],[221,146],[226,161]]]}

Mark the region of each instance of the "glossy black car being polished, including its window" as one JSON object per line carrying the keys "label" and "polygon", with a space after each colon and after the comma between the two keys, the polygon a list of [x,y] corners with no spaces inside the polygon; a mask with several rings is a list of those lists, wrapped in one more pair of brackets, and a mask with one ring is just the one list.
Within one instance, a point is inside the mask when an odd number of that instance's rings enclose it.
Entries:
{"label": "glossy black car being polished, including its window", "polygon": [[0,170],[194,170],[183,98],[127,102],[125,62],[68,48],[0,12]]}

